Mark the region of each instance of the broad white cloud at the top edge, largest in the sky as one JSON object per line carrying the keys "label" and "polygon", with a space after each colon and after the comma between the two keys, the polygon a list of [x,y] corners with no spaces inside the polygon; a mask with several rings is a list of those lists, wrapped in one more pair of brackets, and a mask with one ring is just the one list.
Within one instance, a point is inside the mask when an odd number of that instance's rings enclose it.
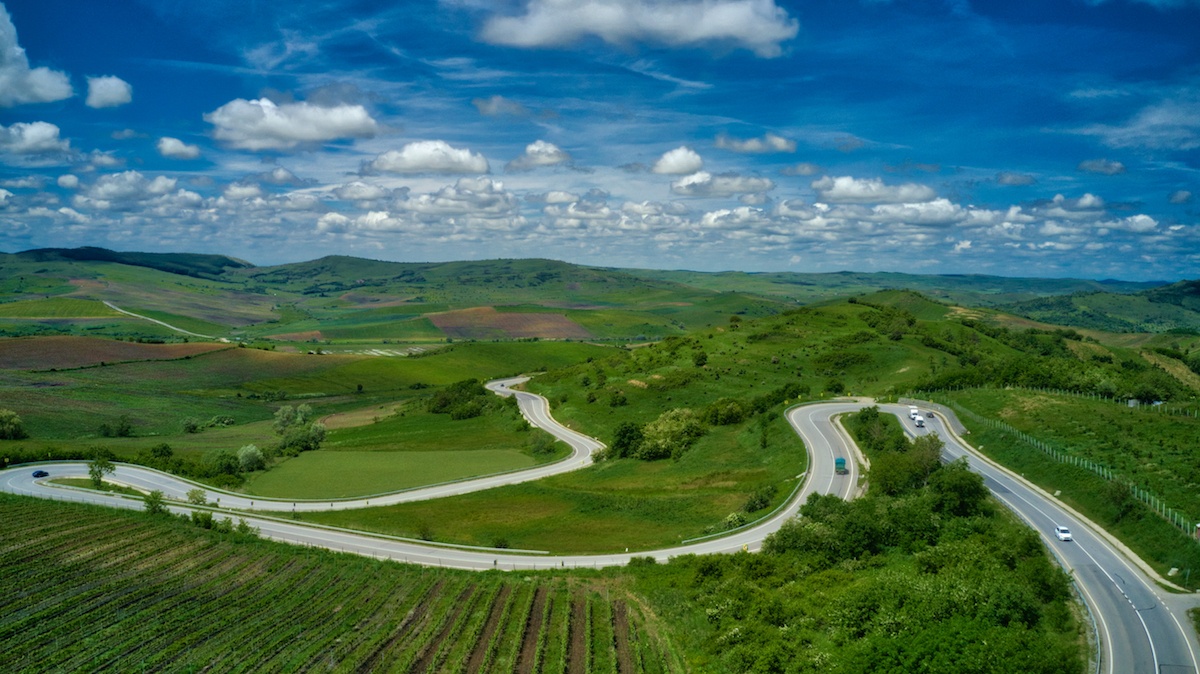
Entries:
{"label": "broad white cloud at the top edge, largest in the sky", "polygon": [[583,37],[617,46],[715,43],[774,58],[799,31],[774,0],[528,0],[523,10],[490,19],[484,40],[524,48],[562,47]]}

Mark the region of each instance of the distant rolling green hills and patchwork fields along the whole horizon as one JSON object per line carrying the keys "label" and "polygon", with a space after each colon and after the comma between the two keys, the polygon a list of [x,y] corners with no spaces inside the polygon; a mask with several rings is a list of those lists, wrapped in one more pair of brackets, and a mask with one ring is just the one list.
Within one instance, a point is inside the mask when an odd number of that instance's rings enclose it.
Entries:
{"label": "distant rolling green hills and patchwork fields along the whole horizon", "polygon": [[[722,325],[732,315],[766,317],[878,293],[883,295],[872,301],[918,318],[932,319],[960,305],[1057,325],[1162,332],[1200,327],[1198,287],[905,273],[704,273],[547,259],[394,263],[328,255],[254,266],[226,255],[40,248],[0,254],[0,303],[11,309],[0,312],[0,336],[166,338],[181,335],[175,326],[233,339],[330,345],[641,341]],[[76,309],[66,315],[65,299],[91,303],[71,305]],[[102,302],[161,323],[116,314]]]}

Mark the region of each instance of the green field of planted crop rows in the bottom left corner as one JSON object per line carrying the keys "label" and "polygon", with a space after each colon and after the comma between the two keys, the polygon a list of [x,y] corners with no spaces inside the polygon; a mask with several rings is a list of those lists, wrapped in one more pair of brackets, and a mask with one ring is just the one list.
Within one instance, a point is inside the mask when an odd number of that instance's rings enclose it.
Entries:
{"label": "green field of planted crop rows in the bottom left corner", "polygon": [[674,669],[640,614],[562,579],[428,570],[5,495],[0,541],[2,672]]}

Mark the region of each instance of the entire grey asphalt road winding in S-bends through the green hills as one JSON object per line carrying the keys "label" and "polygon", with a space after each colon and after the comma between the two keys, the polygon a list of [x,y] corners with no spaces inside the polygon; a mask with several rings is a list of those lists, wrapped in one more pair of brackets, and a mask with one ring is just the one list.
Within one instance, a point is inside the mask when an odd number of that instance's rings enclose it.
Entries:
{"label": "entire grey asphalt road winding in S-bends through the green hills", "polygon": [[[512,389],[524,380],[526,378],[514,378],[492,381],[488,389],[502,396],[516,396],[521,411],[529,423],[552,433],[571,446],[572,453],[566,459],[516,473],[362,499],[292,501],[206,489],[208,498],[217,503],[226,514],[244,517],[268,538],[427,566],[528,570],[616,566],[628,564],[632,556],[652,556],[665,561],[682,554],[757,550],[769,534],[796,516],[809,494],[853,498],[859,492],[863,459],[835,419],[870,403],[833,402],[799,405],[787,411],[787,420],[803,438],[810,457],[809,470],[797,476],[800,487],[785,506],[751,526],[673,548],[604,555],[551,555],[536,550],[431,546],[408,538],[370,536],[329,526],[301,524],[269,514],[272,511],[287,513],[293,510],[299,512],[359,508],[443,498],[500,485],[540,480],[547,475],[589,465],[592,453],[604,445],[554,421],[550,416],[545,398]],[[1088,608],[1094,624],[1093,631],[1099,642],[1097,672],[1106,674],[1200,672],[1196,660],[1200,648],[1186,616],[1186,610],[1198,604],[1194,595],[1168,595],[1157,584],[1160,579],[1153,577],[1148,567],[1124,550],[1120,543],[1049,494],[978,455],[953,431],[947,419],[928,414],[928,426],[917,428],[908,419],[907,405],[884,404],[880,408],[882,411],[896,415],[912,435],[937,433],[946,443],[943,458],[953,461],[967,457],[972,470],[983,475],[992,494],[1039,532],[1063,568],[1072,574]],[[834,473],[834,461],[839,457],[847,459],[850,474]],[[22,465],[0,471],[0,491],[115,507],[142,507],[142,500],[137,498],[56,487],[44,479],[32,477],[34,468],[47,470],[53,477],[88,475],[86,464],[79,462]],[[118,464],[116,471],[109,479],[137,489],[158,489],[169,499],[178,501],[185,500],[187,492],[198,487],[173,475],[127,464]],[[181,503],[170,503],[169,507],[175,512],[192,510]],[[1056,524],[1069,526],[1074,541],[1060,542],[1050,535]]]}

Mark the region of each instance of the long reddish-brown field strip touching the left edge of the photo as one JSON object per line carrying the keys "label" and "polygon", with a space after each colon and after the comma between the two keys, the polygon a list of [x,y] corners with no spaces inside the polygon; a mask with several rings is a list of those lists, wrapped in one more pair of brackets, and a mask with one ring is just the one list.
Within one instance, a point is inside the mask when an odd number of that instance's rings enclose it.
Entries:
{"label": "long reddish-brown field strip touching the left edge of the photo", "polygon": [[138,344],[95,337],[17,337],[0,339],[0,369],[62,369],[101,362],[174,360],[228,348],[228,344],[212,342]]}

